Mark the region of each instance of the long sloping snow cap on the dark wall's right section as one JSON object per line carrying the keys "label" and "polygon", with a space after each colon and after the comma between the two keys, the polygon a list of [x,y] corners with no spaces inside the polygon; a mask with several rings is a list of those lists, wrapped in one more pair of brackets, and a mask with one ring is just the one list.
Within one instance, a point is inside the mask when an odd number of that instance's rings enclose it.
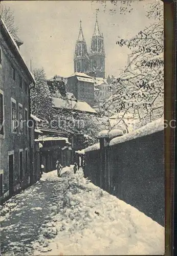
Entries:
{"label": "long sloping snow cap on the dark wall's right section", "polygon": [[109,145],[115,145],[129,140],[134,140],[139,137],[147,136],[152,133],[157,133],[164,130],[164,119],[159,118],[151,123],[144,125],[136,131],[125,134],[121,137],[114,138],[110,141]]}

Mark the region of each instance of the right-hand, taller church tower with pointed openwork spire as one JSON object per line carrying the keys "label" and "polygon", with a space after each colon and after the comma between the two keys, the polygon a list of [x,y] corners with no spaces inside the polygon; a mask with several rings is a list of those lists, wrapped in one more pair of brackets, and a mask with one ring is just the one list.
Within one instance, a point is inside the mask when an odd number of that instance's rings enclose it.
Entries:
{"label": "right-hand, taller church tower with pointed openwork spire", "polygon": [[96,23],[94,34],[91,39],[90,58],[90,72],[91,76],[105,78],[105,52],[104,52],[104,38],[98,26],[98,19],[96,14]]}

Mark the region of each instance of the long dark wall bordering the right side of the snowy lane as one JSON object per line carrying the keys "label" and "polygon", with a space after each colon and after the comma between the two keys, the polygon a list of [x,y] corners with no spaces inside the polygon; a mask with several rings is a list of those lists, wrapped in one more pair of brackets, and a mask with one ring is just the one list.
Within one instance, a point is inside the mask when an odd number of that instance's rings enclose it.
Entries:
{"label": "long dark wall bordering the right side of the snowy lane", "polygon": [[[164,226],[164,131],[85,150],[85,177]],[[122,140],[122,142],[121,142]]]}

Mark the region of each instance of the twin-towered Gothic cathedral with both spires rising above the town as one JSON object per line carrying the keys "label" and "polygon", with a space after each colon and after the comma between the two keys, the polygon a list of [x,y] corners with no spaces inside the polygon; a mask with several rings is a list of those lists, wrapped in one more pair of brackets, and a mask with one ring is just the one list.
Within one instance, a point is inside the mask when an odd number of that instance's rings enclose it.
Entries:
{"label": "twin-towered Gothic cathedral with both spires rising above the town", "polygon": [[74,72],[85,73],[92,77],[105,78],[104,62],[104,38],[98,26],[97,16],[94,33],[91,38],[90,52],[87,51],[87,45],[83,36],[82,25],[80,21],[79,36],[76,41],[74,52]]}

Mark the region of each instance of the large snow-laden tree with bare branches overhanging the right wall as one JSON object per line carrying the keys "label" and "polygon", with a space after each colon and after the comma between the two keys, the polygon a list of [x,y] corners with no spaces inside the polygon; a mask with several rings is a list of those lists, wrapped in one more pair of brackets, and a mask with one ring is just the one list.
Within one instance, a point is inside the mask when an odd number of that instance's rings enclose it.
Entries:
{"label": "large snow-laden tree with bare branches overhanging the right wall", "polygon": [[[133,11],[134,1],[121,1],[121,13]],[[117,1],[112,1],[114,5]],[[130,39],[119,38],[119,47],[131,50],[125,70],[113,82],[116,90],[104,103],[106,114],[138,113],[140,121],[161,117],[164,111],[163,3],[150,2],[151,25]]]}

